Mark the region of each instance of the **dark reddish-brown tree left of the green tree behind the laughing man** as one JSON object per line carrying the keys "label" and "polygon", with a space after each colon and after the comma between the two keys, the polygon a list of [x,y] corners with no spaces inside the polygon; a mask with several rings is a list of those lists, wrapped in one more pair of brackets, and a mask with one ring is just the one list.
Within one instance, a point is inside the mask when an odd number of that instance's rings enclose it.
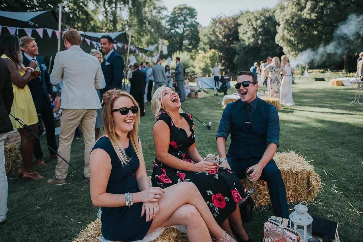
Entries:
{"label": "dark reddish-brown tree left of the green tree behind the laughing man", "polygon": [[235,44],[239,42],[238,17],[239,14],[219,16],[212,21],[212,40],[209,47],[219,53],[218,62],[225,75],[236,75],[240,70],[238,64],[234,63],[237,54]]}

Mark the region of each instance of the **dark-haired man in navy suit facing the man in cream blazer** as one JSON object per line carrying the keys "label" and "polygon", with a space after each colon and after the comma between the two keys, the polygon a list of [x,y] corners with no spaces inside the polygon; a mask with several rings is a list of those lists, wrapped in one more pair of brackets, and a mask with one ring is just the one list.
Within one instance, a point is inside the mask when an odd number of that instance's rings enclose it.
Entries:
{"label": "dark-haired man in navy suit facing the man in cream blazer", "polygon": [[105,54],[105,59],[101,64],[103,75],[105,76],[106,87],[101,89],[101,95],[110,89],[122,89],[123,69],[125,64],[121,55],[113,49],[113,38],[109,35],[101,36],[101,50]]}

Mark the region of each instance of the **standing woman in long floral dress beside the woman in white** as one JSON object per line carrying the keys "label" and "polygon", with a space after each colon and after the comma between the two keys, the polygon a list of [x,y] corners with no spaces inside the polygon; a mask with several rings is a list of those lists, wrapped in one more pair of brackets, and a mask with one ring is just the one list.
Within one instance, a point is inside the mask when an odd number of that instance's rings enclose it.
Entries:
{"label": "standing woman in long floral dress beside the woman in white", "polygon": [[[280,80],[286,75],[284,67],[280,64],[280,59],[275,56],[272,62],[264,69],[267,80],[267,92],[269,97],[280,97]],[[281,78],[280,73],[283,72]]]}

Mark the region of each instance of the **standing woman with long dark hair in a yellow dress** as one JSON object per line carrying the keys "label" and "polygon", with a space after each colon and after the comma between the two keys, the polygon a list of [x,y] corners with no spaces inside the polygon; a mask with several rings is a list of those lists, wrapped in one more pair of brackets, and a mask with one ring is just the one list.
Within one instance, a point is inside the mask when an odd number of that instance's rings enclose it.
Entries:
{"label": "standing woman with long dark hair in a yellow dress", "polygon": [[[31,61],[28,67],[24,67],[20,41],[16,35],[5,34],[0,37],[0,54],[11,71],[14,92],[11,114],[23,120],[37,134],[37,111],[27,83],[36,77],[34,68],[38,66],[38,63]],[[24,180],[43,178],[33,168],[33,146],[36,137],[25,130],[13,117],[10,116],[10,120],[13,128],[19,131],[21,137],[20,152],[23,160],[18,171],[19,176],[23,176]]]}

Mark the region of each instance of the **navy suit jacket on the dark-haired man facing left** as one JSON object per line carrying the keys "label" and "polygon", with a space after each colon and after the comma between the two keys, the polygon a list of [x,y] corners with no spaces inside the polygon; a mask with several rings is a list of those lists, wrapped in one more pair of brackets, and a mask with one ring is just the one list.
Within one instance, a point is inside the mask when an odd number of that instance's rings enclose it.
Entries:
{"label": "navy suit jacket on the dark-haired man facing left", "polygon": [[106,87],[101,89],[101,95],[113,88],[122,89],[123,69],[125,64],[121,55],[112,51],[110,56],[102,62],[101,68],[105,76]]}

